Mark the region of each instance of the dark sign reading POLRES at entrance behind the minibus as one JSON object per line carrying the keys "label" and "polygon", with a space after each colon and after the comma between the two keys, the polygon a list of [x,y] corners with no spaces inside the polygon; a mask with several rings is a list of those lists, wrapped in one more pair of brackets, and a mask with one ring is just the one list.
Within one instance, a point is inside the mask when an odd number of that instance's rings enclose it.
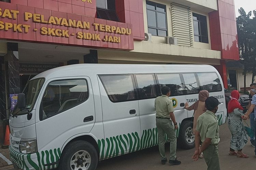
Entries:
{"label": "dark sign reading POLRES at entrance behind the minibus", "polygon": [[59,65],[56,64],[28,64],[28,63],[20,63],[19,64],[19,73],[25,74],[25,73],[34,73],[38,74],[41,72],[44,72],[46,70],[59,67]]}

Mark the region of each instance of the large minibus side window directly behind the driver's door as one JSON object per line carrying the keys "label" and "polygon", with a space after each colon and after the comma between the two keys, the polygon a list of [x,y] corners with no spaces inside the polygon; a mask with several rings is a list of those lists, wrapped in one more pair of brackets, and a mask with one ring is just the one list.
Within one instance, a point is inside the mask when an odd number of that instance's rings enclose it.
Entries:
{"label": "large minibus side window directly behind the driver's door", "polygon": [[132,74],[99,75],[110,101],[137,100],[137,91]]}

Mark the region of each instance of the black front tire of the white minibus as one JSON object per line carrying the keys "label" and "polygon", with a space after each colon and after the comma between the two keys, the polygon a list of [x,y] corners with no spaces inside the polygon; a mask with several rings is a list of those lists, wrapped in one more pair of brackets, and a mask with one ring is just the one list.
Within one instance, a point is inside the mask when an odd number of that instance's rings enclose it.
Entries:
{"label": "black front tire of the white minibus", "polygon": [[58,164],[57,169],[58,170],[72,170],[70,168],[71,158],[73,157],[73,155],[76,152],[82,151],[82,150],[89,153],[90,158],[91,158],[91,164],[90,164],[88,170],[95,170],[97,168],[98,162],[99,162],[97,150],[91,143],[89,143],[87,141],[83,141],[83,140],[73,141],[73,142],[69,143],[68,146],[65,147],[65,149],[63,150],[63,152],[61,154],[60,162]]}

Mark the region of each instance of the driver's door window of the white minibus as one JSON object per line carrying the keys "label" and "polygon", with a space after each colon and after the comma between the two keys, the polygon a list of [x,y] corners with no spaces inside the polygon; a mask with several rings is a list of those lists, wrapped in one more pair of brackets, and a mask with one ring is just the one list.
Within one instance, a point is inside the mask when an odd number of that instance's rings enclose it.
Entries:
{"label": "driver's door window of the white minibus", "polygon": [[42,119],[66,111],[88,99],[85,79],[58,80],[49,83],[42,99]]}

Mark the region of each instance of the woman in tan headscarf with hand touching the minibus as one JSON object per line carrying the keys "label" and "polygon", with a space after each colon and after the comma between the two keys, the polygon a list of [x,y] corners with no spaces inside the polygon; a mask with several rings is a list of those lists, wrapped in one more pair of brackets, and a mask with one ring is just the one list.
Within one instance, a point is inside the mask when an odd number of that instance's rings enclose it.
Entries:
{"label": "woman in tan headscarf with hand touching the minibus", "polygon": [[[197,119],[200,115],[206,112],[205,100],[209,97],[209,92],[207,90],[202,90],[199,92],[198,101],[191,106],[188,103],[185,104],[185,109],[188,111],[194,110],[194,122],[193,122],[193,134],[196,134]],[[203,154],[199,156],[203,158]]]}

